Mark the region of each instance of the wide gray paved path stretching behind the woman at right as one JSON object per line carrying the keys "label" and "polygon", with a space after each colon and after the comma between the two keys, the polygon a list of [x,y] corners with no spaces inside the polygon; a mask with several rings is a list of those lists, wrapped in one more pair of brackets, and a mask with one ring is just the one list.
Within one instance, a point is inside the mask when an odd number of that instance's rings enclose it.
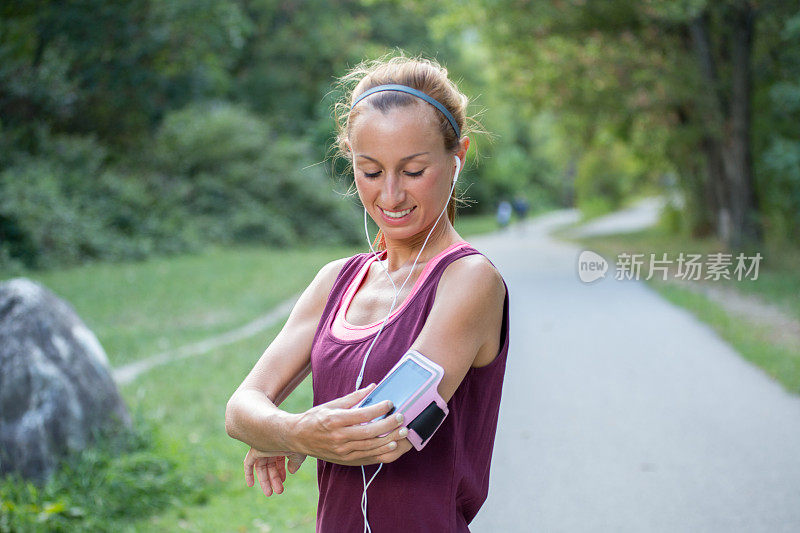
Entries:
{"label": "wide gray paved path stretching behind the woman at right", "polygon": [[489,497],[471,530],[800,531],[800,397],[644,282],[614,279],[613,262],[581,282],[581,249],[548,235],[575,218],[470,239],[511,304]]}

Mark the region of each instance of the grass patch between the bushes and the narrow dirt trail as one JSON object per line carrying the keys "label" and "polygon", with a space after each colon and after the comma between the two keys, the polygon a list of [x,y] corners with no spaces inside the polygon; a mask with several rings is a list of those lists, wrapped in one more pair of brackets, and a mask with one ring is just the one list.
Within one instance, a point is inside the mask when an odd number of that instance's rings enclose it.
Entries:
{"label": "grass patch between the bushes and the narrow dirt trail", "polygon": [[140,263],[27,272],[70,302],[112,366],[240,326],[308,284],[349,248],[230,248]]}

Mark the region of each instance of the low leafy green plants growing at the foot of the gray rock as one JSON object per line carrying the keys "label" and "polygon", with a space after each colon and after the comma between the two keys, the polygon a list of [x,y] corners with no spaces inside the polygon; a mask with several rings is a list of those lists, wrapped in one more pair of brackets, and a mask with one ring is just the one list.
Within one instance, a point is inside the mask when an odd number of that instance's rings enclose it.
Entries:
{"label": "low leafy green plants growing at the foot of the gray rock", "polygon": [[0,479],[0,532],[114,531],[170,505],[207,498],[199,474],[158,449],[153,426],[100,435],[43,486]]}

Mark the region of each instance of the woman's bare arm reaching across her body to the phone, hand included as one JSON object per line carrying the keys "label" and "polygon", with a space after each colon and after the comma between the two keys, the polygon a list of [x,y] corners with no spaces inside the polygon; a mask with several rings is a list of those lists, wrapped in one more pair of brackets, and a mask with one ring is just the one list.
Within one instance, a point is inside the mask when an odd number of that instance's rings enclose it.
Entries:
{"label": "woman's bare arm reaching across her body to the phone, hand included", "polygon": [[[310,371],[314,334],[345,261],[333,261],[320,270],[281,332],[228,400],[228,435],[262,452],[255,455],[295,453],[339,464],[374,464],[393,452],[406,436],[402,419],[387,417],[367,424],[385,415],[392,408],[390,402],[352,408],[372,387],[303,413],[287,413],[277,407]],[[245,464],[246,471],[248,466],[251,464]]]}

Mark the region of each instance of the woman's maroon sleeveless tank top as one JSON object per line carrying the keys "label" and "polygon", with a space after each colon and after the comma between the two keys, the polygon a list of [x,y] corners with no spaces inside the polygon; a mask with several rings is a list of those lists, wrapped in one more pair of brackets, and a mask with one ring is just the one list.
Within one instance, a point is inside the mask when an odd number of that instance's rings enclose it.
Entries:
{"label": "woman's maroon sleeveless tank top", "polygon": [[[457,248],[421,280],[411,300],[386,322],[367,360],[363,385],[378,383],[416,340],[447,266],[476,253],[480,252],[469,245]],[[311,348],[314,405],[353,392],[364,354],[375,338],[372,333],[345,340],[331,331],[343,295],[371,257],[371,253],[361,253],[349,258],[328,296]],[[467,371],[448,402],[450,414],[422,451],[412,448],[383,465],[367,491],[368,519],[375,533],[469,531],[467,524],[486,500],[508,354],[508,286],[505,281],[503,285],[506,296],[497,356],[488,365]],[[367,480],[376,469],[377,465],[365,467]],[[317,460],[317,481],[317,531],[362,531],[361,468]]]}

